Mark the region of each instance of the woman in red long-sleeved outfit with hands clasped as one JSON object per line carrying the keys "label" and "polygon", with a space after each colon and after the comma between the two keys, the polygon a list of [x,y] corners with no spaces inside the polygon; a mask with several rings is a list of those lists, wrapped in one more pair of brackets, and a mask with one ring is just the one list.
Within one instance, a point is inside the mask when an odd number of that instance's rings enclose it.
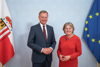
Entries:
{"label": "woman in red long-sleeved outfit with hands clasped", "polygon": [[60,37],[57,50],[59,67],[78,67],[78,56],[82,54],[80,38],[73,34],[71,22],[65,23],[63,31],[66,35]]}

